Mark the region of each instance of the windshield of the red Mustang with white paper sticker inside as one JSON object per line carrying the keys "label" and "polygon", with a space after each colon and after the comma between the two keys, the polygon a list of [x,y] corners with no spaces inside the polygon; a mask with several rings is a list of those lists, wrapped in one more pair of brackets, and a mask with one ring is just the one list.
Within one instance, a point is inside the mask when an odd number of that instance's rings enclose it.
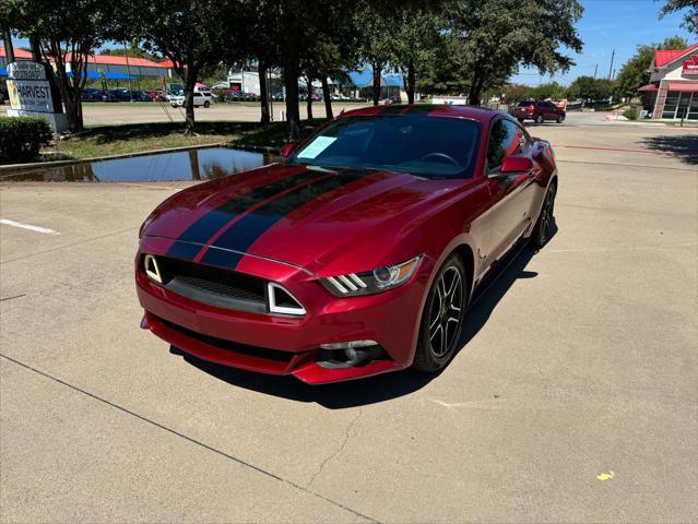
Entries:
{"label": "windshield of the red Mustang with white paper sticker inside", "polygon": [[424,115],[340,118],[298,150],[289,163],[469,178],[480,129],[473,120]]}

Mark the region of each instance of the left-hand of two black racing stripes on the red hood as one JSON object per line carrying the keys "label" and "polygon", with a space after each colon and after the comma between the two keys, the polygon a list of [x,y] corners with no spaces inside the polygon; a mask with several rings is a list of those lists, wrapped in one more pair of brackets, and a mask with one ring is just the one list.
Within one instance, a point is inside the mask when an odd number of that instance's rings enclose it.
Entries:
{"label": "left-hand of two black racing stripes on the red hood", "polygon": [[[205,243],[225,224],[230,222],[235,216],[250,209],[252,205],[270,199],[282,191],[286,191],[294,186],[306,183],[323,175],[324,174],[322,172],[306,169],[235,196],[215,210],[210,211],[190,225],[177,238],[177,240],[181,240],[184,242]],[[192,252],[193,254],[191,254]],[[179,242],[175,242],[167,251],[167,254],[170,257],[184,258],[185,260],[191,260],[196,257],[197,252],[198,251],[194,252],[194,248],[182,248]]]}

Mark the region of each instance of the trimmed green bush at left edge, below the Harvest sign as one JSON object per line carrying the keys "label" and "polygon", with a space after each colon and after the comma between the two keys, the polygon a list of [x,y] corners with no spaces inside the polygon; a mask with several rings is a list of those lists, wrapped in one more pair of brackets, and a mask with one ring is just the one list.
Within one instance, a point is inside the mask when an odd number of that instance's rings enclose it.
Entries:
{"label": "trimmed green bush at left edge, below the Harvest sign", "polygon": [[51,128],[40,117],[0,117],[0,164],[36,159],[51,136]]}

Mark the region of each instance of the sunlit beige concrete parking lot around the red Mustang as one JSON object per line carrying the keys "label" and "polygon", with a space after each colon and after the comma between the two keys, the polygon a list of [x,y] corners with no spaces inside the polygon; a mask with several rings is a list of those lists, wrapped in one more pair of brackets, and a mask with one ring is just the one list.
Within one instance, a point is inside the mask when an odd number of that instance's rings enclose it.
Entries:
{"label": "sunlit beige concrete parking lot around the red Mustang", "polygon": [[52,233],[0,224],[0,521],[696,522],[698,130],[530,130],[558,231],[433,378],[310,388],[171,354],[132,259],[188,182],[3,182],[0,217]]}

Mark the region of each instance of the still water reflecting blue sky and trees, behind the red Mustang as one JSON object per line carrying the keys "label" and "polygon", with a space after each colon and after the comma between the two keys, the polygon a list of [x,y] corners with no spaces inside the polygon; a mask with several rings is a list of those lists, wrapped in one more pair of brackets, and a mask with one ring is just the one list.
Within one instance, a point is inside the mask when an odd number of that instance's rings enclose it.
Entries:
{"label": "still water reflecting blue sky and trees, behind the red Mustang", "polygon": [[279,162],[277,156],[228,147],[117,158],[19,172],[4,181],[147,182],[208,180]]}

